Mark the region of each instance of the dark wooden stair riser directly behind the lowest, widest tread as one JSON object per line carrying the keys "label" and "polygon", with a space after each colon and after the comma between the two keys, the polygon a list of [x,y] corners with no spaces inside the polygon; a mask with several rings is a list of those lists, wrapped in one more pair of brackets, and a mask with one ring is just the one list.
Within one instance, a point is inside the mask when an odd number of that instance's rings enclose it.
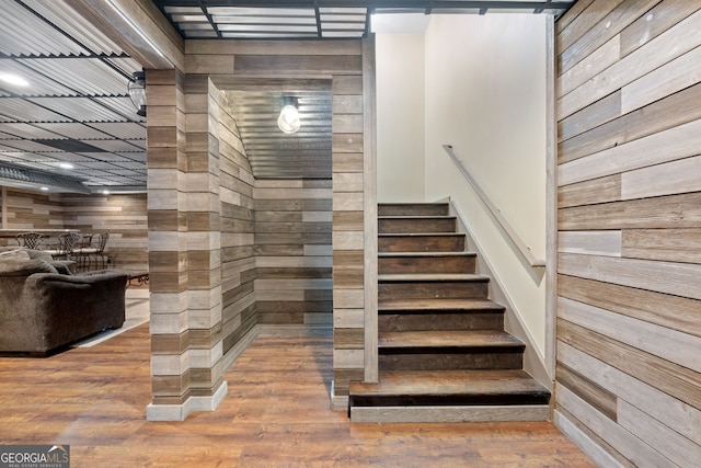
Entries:
{"label": "dark wooden stair riser directly behind the lowest, widest tread", "polygon": [[508,353],[411,353],[383,354],[380,350],[380,370],[455,370],[455,369],[520,369],[521,352]]}

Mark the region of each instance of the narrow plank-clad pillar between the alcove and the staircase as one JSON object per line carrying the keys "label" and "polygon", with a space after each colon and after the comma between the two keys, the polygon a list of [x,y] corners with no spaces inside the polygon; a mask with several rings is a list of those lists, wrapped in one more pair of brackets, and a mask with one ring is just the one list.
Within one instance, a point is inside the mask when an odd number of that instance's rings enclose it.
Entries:
{"label": "narrow plank-clad pillar between the alcove and the staircase", "polygon": [[350,380],[365,370],[363,75],[334,75],[333,90],[333,388],[345,409]]}

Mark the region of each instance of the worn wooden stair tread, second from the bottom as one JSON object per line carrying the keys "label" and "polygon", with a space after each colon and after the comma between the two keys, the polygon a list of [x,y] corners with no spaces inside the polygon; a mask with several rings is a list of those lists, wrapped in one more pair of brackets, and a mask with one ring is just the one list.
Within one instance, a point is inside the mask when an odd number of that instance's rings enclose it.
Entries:
{"label": "worn wooden stair tread, second from the bottom", "polygon": [[378,335],[378,346],[384,349],[429,347],[524,347],[518,338],[501,330],[428,330],[387,331]]}

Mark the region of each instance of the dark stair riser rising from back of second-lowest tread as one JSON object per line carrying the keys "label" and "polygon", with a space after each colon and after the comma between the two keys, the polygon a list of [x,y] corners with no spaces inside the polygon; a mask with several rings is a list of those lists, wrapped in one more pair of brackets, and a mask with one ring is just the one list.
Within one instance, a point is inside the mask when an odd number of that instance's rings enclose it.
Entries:
{"label": "dark stair riser rising from back of second-lowest tread", "polygon": [[503,330],[503,313],[381,313],[379,331]]}

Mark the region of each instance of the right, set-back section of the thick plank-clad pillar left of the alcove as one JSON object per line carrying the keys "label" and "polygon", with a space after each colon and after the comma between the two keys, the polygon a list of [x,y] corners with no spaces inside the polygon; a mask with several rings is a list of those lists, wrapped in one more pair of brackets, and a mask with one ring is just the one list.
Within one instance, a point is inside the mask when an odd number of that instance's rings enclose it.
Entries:
{"label": "right, set-back section of the thick plank-clad pillar left of the alcove", "polygon": [[[209,80],[187,76],[185,88],[209,91]],[[219,96],[211,91],[209,99]],[[187,309],[193,397],[223,397],[221,342],[221,241],[219,203],[219,140],[210,135],[208,100],[186,99],[187,174]],[[218,107],[215,107],[215,111]],[[212,112],[215,112],[212,111]],[[218,117],[215,116],[218,121]],[[219,396],[219,397],[217,397]],[[214,401],[212,401],[214,403]],[[205,409],[205,408],[203,408]],[[214,408],[212,408],[214,409]]]}

